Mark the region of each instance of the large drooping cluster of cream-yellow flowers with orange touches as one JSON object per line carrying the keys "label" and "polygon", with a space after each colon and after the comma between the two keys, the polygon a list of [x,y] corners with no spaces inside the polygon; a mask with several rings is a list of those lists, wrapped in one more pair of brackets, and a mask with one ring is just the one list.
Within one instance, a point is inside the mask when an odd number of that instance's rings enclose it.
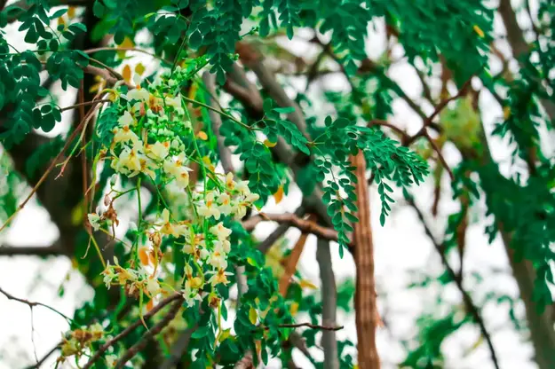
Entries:
{"label": "large drooping cluster of cream-yellow flowers with orange touches", "polygon": [[[139,219],[138,239],[147,236],[147,245],[131,247],[131,253],[137,254],[131,255],[130,267],[124,268],[115,258],[102,274],[108,288],[123,286],[134,297],[146,294],[150,306],[159,294],[173,289],[183,294],[188,306],[208,295],[210,306],[216,307],[220,299],[215,287],[226,286],[231,274],[226,270],[232,231],[224,224],[245,216],[259,197],[250,192],[248,181],[236,182],[233,173],[216,173],[199,151],[190,114],[178,92],[186,75],[186,70],[176,67],[173,75],[156,77],[147,87],[136,77],[136,88],[114,91],[119,118],[112,130],[110,154],[103,159],[119,176],[144,176],[155,185],[175,187],[186,194],[191,211],[186,220],[179,220],[165,207],[155,219]],[[203,188],[189,184],[192,163],[206,175]],[[94,213],[88,218],[95,231],[105,220],[116,219]],[[170,280],[167,277],[172,273],[159,267],[163,244],[182,248],[186,258],[183,280]]]}

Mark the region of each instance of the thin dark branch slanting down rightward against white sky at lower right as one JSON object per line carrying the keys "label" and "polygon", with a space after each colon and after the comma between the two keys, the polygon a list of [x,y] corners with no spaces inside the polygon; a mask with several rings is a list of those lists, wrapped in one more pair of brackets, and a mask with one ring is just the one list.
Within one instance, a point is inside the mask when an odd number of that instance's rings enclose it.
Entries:
{"label": "thin dark branch slanting down rightward against white sky at lower right", "polygon": [[488,344],[488,349],[489,349],[489,353],[491,355],[491,359],[493,361],[493,364],[496,367],[496,369],[499,369],[499,363],[498,363],[498,360],[497,360],[496,349],[494,348],[494,344],[491,341],[491,335],[488,333],[488,329],[486,328],[486,324],[484,323],[484,319],[481,317],[480,311],[478,310],[476,305],[474,305],[474,302],[472,301],[471,295],[468,292],[466,292],[466,290],[464,289],[463,280],[457,278],[456,271],[453,270],[453,268],[451,268],[451,266],[449,265],[448,260],[447,260],[447,256],[445,255],[445,247],[443,245],[440,245],[440,243],[438,241],[436,241],[435,238],[433,237],[432,230],[430,229],[427,222],[425,221],[424,214],[422,213],[420,208],[418,208],[418,206],[416,205],[416,203],[412,199],[412,197],[408,196],[408,197],[405,197],[405,199],[407,200],[408,205],[410,205],[413,209],[415,209],[416,216],[418,216],[418,219],[420,220],[420,222],[424,226],[424,232],[426,233],[428,238],[432,241],[433,247],[436,249],[436,251],[440,255],[441,263],[443,263],[444,268],[448,271],[449,277],[451,279],[453,279],[453,281],[455,282],[456,287],[458,288],[459,292],[463,295],[463,301],[464,301],[464,304],[466,305],[466,309],[470,310],[472,318],[474,318],[474,321],[480,327],[480,333],[482,334],[482,336],[484,337],[484,339],[486,340],[486,342]]}

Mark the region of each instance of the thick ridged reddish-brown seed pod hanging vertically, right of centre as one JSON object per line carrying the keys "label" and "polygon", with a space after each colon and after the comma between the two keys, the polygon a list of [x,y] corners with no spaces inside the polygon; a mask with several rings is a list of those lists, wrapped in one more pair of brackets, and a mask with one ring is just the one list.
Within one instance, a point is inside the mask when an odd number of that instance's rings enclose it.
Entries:
{"label": "thick ridged reddish-brown seed pod hanging vertically, right of centre", "polygon": [[356,265],[356,289],[354,293],[354,311],[357,326],[359,367],[361,369],[379,369],[380,360],[376,347],[376,328],[379,314],[376,304],[376,281],[374,279],[374,244],[370,225],[370,203],[368,185],[366,185],[366,162],[364,154],[359,152],[352,158],[355,175],[359,178],[355,185],[357,195],[357,217],[354,224],[353,239],[354,263]]}

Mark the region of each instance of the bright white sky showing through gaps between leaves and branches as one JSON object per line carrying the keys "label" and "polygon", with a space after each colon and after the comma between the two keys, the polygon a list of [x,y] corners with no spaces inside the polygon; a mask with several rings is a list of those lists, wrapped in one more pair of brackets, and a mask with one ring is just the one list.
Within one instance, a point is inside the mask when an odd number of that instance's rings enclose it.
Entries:
{"label": "bright white sky showing through gaps between leaves and branches", "polygon": [[[535,2],[532,2],[535,9]],[[519,14],[521,27],[526,27],[529,23],[524,13]],[[371,30],[368,52],[370,57],[376,58],[383,51],[384,36],[383,25],[377,23],[376,31]],[[371,28],[370,28],[371,29]],[[496,19],[496,35],[503,34],[503,24]],[[11,36],[13,33],[10,34]],[[16,44],[22,44],[19,40],[11,40]],[[370,47],[371,44],[371,47]],[[291,49],[297,54],[307,57],[313,54],[314,50],[304,50],[305,44],[299,42],[289,43]],[[500,45],[501,50],[508,55],[507,45]],[[402,52],[402,51],[401,51]],[[399,55],[399,54],[398,54]],[[139,61],[140,58],[137,58]],[[308,59],[308,58],[307,58]],[[148,61],[148,59],[143,59]],[[145,61],[144,61],[145,62]],[[145,64],[146,64],[145,62]],[[389,70],[389,76],[400,84],[400,87],[411,98],[420,101],[420,82],[412,69],[405,62],[400,62]],[[304,84],[300,87],[304,90]],[[317,93],[319,89],[338,90],[345,88],[345,80],[341,76],[333,76],[322,82],[315,82],[310,90],[311,94]],[[482,118],[487,130],[493,130],[493,123],[501,117],[502,111],[497,106],[496,101],[488,93],[482,93],[480,107]],[[65,98],[60,102],[60,106],[72,104],[71,98]],[[432,113],[430,106],[424,106],[424,112]],[[407,128],[409,133],[415,133],[421,127],[420,118],[414,114],[404,101],[396,100],[393,103],[394,116],[391,121],[402,128]],[[67,114],[65,118],[67,119]],[[57,132],[51,132],[49,136]],[[510,150],[498,138],[491,138],[491,149],[497,161],[507,162]],[[551,148],[550,148],[551,150]],[[453,168],[459,160],[458,153],[451,147],[444,150],[450,166]],[[504,166],[508,171],[508,166]],[[436,238],[442,238],[446,219],[449,214],[456,211],[457,205],[450,200],[448,177],[443,177],[444,191],[440,202],[440,214],[437,218],[428,218],[428,223],[432,224]],[[432,178],[413,191],[416,195],[416,202],[423,208],[426,214],[430,215],[428,209],[432,204]],[[400,199],[400,192],[395,192],[396,199]],[[300,192],[297,188],[291,188],[289,197],[279,205],[274,205],[273,200],[264,209],[266,212],[294,211],[300,202]],[[405,355],[404,349],[400,346],[400,339],[409,339],[417,333],[415,319],[422,313],[445,314],[447,311],[435,311],[436,297],[442,296],[444,301],[460,303],[460,295],[456,287],[450,284],[448,287],[440,287],[437,284],[426,289],[408,290],[406,286],[411,281],[410,271],[428,273],[438,276],[443,272],[440,258],[433,249],[429,239],[424,234],[424,228],[416,218],[416,214],[411,208],[402,204],[402,201],[395,204],[392,214],[387,218],[384,227],[379,224],[380,202],[376,189],[373,187],[370,195],[370,205],[372,213],[372,226],[374,234],[374,244],[376,249],[376,278],[378,284],[378,304],[380,310],[385,313],[385,319],[390,324],[389,330],[382,329],[377,333],[377,346],[383,367],[385,369],[396,367]],[[512,279],[503,244],[497,238],[492,245],[488,245],[487,237],[484,236],[484,227],[488,222],[484,220],[483,204],[472,209],[472,225],[469,227],[465,269],[466,279],[464,285],[467,290],[472,291],[472,297],[476,303],[481,304],[485,294],[495,291],[496,294],[517,295],[517,287]],[[488,219],[490,221],[490,219]],[[274,229],[275,225],[262,224],[256,229],[256,235],[264,239],[265,235]],[[289,230],[287,236],[289,243],[294,243],[300,232]],[[36,202],[29,203],[20,215],[16,218],[8,232],[0,235],[0,245],[2,243],[11,245],[49,245],[58,236],[56,227],[50,222],[48,214],[44,209],[38,207]],[[315,285],[320,284],[319,271],[315,260],[316,242],[310,236],[305,251],[299,263],[300,270],[306,279],[311,280]],[[353,278],[354,263],[349,253],[345,253],[340,259],[337,247],[332,247],[333,268],[336,273],[338,283]],[[94,261],[91,258],[91,262]],[[457,267],[456,259],[451,260],[454,268]],[[500,272],[493,273],[492,270]],[[477,284],[472,279],[472,272],[479,271],[484,280]],[[37,277],[38,276],[38,277]],[[63,298],[57,296],[56,291],[60,284],[64,284],[65,295]],[[72,271],[71,263],[65,257],[51,257],[44,261],[39,261],[32,257],[12,257],[0,258],[0,287],[16,296],[27,298],[31,301],[44,302],[56,309],[71,316],[75,307],[91,297],[91,288],[86,287],[83,278],[79,273]],[[482,311],[483,318],[492,334],[493,343],[496,347],[497,355],[500,358],[500,365],[503,369],[527,369],[535,368],[535,364],[530,361],[532,355],[531,346],[524,342],[525,336],[517,334],[509,321],[507,304],[496,305],[488,303]],[[519,302],[516,308],[517,316],[524,318],[523,305]],[[233,316],[230,314],[230,324]],[[303,321],[303,317],[298,318]],[[31,319],[28,306],[19,302],[9,302],[0,296],[0,369],[11,369],[30,365],[33,359],[33,344],[31,341]],[[42,357],[45,352],[52,349],[56,342],[59,342],[61,332],[67,329],[67,324],[63,318],[37,307],[34,310],[35,323],[35,345],[38,357]],[[338,313],[338,323],[345,325],[345,330],[339,331],[339,339],[349,338],[356,342],[356,331],[354,327],[354,315],[345,317],[342,311]],[[446,368],[467,369],[476,368],[488,369],[493,367],[489,361],[489,352],[485,343],[481,343],[478,349],[468,355],[464,352],[471,348],[480,336],[480,331],[476,326],[466,325],[459,329],[456,334],[449,336],[443,343],[442,350],[447,358]],[[313,350],[314,357],[322,357],[321,351]],[[52,356],[50,364],[44,367],[53,367]],[[310,367],[302,355],[296,355],[297,365]],[[13,366],[15,365],[15,366]],[[268,368],[278,368],[276,362],[270,363]]]}

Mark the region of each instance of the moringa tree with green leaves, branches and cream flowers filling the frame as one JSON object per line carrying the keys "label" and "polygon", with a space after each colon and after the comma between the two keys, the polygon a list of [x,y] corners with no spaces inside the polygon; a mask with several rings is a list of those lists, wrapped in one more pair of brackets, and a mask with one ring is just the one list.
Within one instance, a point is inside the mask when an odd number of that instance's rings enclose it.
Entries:
{"label": "moringa tree with green leaves, branches and cream flowers filling the frame", "polygon": [[[69,257],[94,289],[73,317],[54,310],[68,326],[48,355],[56,353],[56,365],[249,368],[279,358],[297,367],[298,349],[315,367],[380,367],[371,186],[382,225],[395,198],[415,209],[446,271],[434,279],[462,295],[462,308],[420,319],[402,366],[442,367],[441,343],[475,325],[491,365],[501,367],[483,303],[464,282],[470,212],[482,201],[486,232],[503,239],[526,308],[534,361],[555,367],[555,167],[544,145],[555,122],[550,1],[7,3],[0,232],[35,196],[59,239],[0,247],[0,255]],[[494,32],[496,15],[504,35]],[[370,59],[376,27],[385,29],[385,50]],[[286,39],[316,49],[315,57],[292,53]],[[417,99],[392,79],[401,59],[422,82]],[[308,92],[337,75],[348,90]],[[61,95],[75,103],[62,104]],[[493,131],[482,124],[484,95],[503,111]],[[416,133],[392,122],[397,100],[419,117]],[[61,133],[44,135],[51,130]],[[493,159],[491,137],[511,148],[508,170]],[[447,150],[458,153],[455,165]],[[432,216],[445,192],[459,205],[442,240],[413,195],[424,180],[434,186]],[[21,184],[29,187],[22,195]],[[294,189],[302,192],[295,213],[264,211]],[[279,226],[257,239],[252,231],[269,221]],[[289,228],[301,235],[285,250]],[[297,272],[310,234],[318,238],[318,294]],[[331,263],[345,253],[356,280],[339,288]],[[7,289],[0,293],[31,310],[49,308]],[[338,308],[356,317],[346,341],[337,339]],[[323,362],[311,353],[319,346]]]}

